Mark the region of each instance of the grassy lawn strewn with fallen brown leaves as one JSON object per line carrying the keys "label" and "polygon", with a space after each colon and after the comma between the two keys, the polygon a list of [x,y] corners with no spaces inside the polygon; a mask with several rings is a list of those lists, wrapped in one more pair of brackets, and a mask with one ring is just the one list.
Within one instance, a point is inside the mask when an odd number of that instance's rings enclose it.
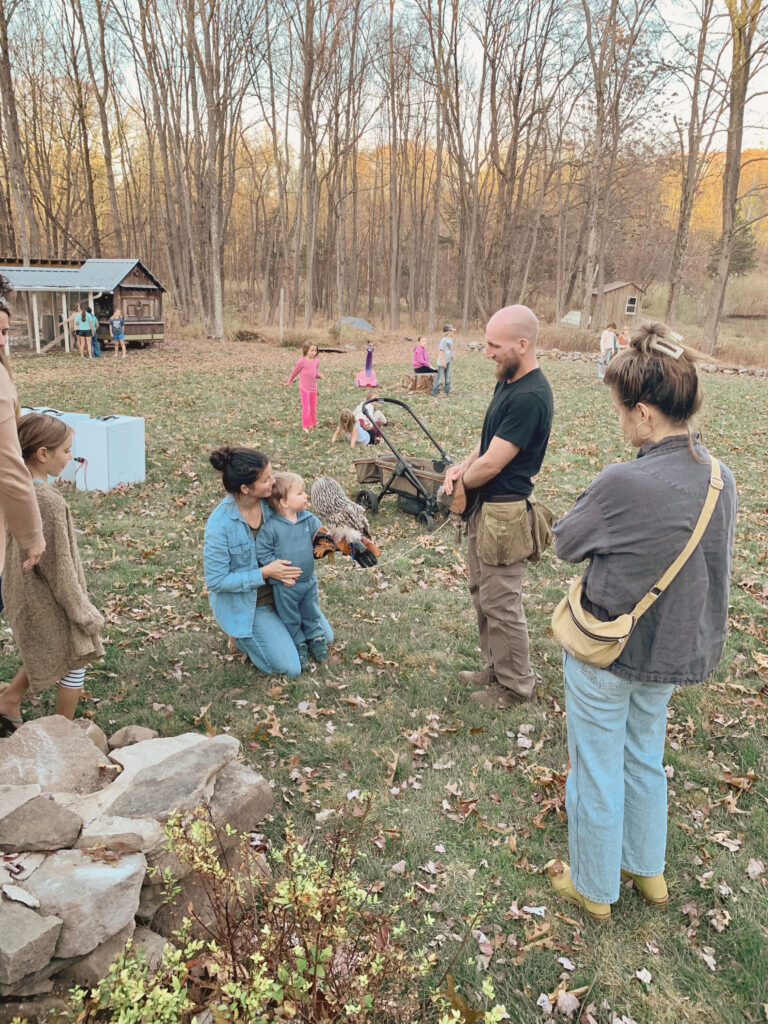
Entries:
{"label": "grassy lawn strewn with fallen brown leaves", "polygon": [[[379,346],[383,394],[403,397],[409,354],[406,345]],[[286,682],[227,654],[203,581],[203,528],[221,497],[210,450],[251,444],[309,481],[325,472],[356,489],[352,453],[330,437],[339,409],[359,400],[352,381],[361,349],[322,356],[321,429],[309,436],[298,429],[295,387],[276,386],[294,358],[257,343],[199,341],[120,361],[15,357],[27,404],[146,419],[144,484],[102,495],[67,488],[89,587],[108,621],[106,657],[87,676],[82,713],[108,733],[139,723],[162,734],[237,735],[244,759],[274,786],[265,830],[278,843],[289,816],[304,835],[319,834],[333,826],[327,812],[370,793],[360,870],[381,880],[382,898],[406,894],[415,916],[431,913],[445,962],[472,922],[454,970],[472,1004],[489,974],[518,1022],[542,1020],[537,999],[558,985],[579,993],[573,1019],[584,1022],[765,1020],[766,382],[703,380],[700,427],[735,473],[740,513],[722,665],[706,686],[678,692],[669,713],[671,906],[652,911],[626,890],[612,923],[598,929],[553,898],[541,874],[550,857],[567,853],[562,673],[549,617],[570,567],[549,555],[527,574],[543,686],[536,702],[507,712],[477,708],[456,682],[457,670],[479,667],[479,652],[454,525],[421,534],[392,498],[374,520],[383,549],[375,569],[338,558],[318,569],[336,631],[327,668]],[[605,463],[631,451],[594,367],[543,366],[556,415],[537,493],[561,514]],[[493,381],[480,352],[461,351],[450,398],[406,397],[460,458],[479,436]],[[398,445],[426,454],[403,415],[393,419]],[[18,662],[5,628],[1,635],[0,678],[9,679]],[[27,714],[50,710],[46,694]],[[473,921],[483,899],[489,908]]]}

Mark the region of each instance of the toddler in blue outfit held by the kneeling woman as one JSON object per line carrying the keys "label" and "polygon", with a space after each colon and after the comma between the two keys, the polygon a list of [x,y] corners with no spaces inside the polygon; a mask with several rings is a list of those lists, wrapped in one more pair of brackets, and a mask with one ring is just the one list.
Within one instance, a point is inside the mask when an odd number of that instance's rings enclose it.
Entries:
{"label": "toddler in blue outfit held by the kneeling woman", "polygon": [[292,587],[273,583],[272,592],[278,614],[296,644],[302,670],[306,670],[309,668],[308,654],[315,662],[328,657],[312,552],[312,538],[323,524],[316,515],[307,511],[304,481],[296,473],[275,473],[267,501],[275,515],[259,530],[256,557],[259,565],[266,565],[275,558],[289,558],[301,569],[301,575]]}

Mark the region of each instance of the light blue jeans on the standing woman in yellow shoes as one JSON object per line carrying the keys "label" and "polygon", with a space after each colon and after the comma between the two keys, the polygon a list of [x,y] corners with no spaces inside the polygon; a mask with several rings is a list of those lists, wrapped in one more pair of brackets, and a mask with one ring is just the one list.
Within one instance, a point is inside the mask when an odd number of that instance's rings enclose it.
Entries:
{"label": "light blue jeans on the standing woman in yellow shoes", "polygon": [[621,870],[652,877],[667,850],[663,758],[672,683],[628,682],[563,654],[570,772],[570,879],[595,903],[618,899]]}

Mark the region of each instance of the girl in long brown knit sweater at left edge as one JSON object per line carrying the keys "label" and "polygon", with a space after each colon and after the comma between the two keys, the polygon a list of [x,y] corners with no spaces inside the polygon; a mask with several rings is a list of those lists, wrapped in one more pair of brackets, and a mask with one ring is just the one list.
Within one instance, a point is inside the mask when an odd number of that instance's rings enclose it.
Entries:
{"label": "girl in long brown knit sweater at left edge", "polygon": [[[22,457],[35,486],[43,522],[45,552],[32,572],[25,554],[8,538],[3,598],[26,675],[19,673],[3,693],[7,701],[58,684],[56,713],[74,718],[85,667],[103,655],[104,621],[88,600],[85,577],[67,502],[48,476],[58,476],[72,459],[73,431],[52,416],[31,413],[18,421]],[[14,687],[17,692],[9,694]]]}

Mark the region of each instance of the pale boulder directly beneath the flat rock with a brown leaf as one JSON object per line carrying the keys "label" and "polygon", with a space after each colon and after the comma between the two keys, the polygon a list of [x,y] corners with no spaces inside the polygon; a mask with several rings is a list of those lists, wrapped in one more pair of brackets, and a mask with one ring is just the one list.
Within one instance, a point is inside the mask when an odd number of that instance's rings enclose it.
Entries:
{"label": "pale boulder directly beneath the flat rock with a brown leaf", "polygon": [[146,860],[141,853],[117,862],[93,859],[82,850],[52,853],[25,882],[42,913],[63,922],[56,956],[81,956],[116,935],[138,907]]}

